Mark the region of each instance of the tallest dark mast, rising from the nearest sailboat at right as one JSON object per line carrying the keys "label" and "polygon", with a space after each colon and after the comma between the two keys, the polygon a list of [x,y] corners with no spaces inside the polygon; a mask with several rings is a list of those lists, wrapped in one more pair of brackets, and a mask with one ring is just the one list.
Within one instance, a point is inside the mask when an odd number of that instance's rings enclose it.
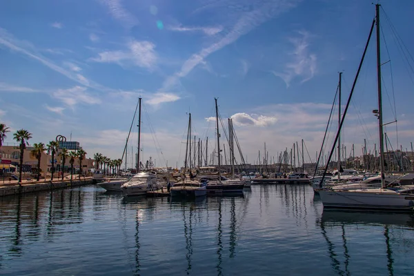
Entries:
{"label": "tallest dark mast, rising from the nearest sailboat at right", "polygon": [[377,25],[377,81],[378,81],[378,127],[380,128],[381,184],[385,188],[384,175],[384,130],[382,128],[381,51],[380,51],[380,4],[375,5]]}

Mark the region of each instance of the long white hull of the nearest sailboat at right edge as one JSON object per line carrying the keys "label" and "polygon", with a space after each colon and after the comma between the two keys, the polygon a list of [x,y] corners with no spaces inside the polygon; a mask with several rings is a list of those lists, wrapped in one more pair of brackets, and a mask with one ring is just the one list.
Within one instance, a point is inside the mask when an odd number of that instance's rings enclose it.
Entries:
{"label": "long white hull of the nearest sailboat at right edge", "polygon": [[324,208],[411,211],[414,195],[319,190]]}

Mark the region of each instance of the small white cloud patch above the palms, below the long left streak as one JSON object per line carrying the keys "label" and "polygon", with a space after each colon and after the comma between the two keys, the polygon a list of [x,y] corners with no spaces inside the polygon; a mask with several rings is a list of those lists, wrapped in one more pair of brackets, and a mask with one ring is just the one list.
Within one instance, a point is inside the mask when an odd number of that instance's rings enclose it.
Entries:
{"label": "small white cloud patch above the palms, below the long left streak", "polygon": [[52,96],[65,103],[70,108],[75,108],[77,103],[97,104],[101,103],[98,97],[92,96],[86,92],[85,87],[75,86],[69,89],[59,89],[52,93]]}

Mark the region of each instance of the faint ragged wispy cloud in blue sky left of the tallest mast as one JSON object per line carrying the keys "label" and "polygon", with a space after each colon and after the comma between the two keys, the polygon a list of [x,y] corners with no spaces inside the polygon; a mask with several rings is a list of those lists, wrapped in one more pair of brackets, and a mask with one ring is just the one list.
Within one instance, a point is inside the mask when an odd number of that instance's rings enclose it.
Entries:
{"label": "faint ragged wispy cloud in blue sky left of the tallest mast", "polygon": [[295,78],[301,79],[301,83],[313,78],[316,73],[317,57],[308,49],[311,34],[306,31],[299,31],[299,37],[290,37],[288,40],[293,44],[294,50],[289,55],[292,61],[286,63],[283,72],[273,72],[276,77],[281,77],[290,86],[290,82]]}

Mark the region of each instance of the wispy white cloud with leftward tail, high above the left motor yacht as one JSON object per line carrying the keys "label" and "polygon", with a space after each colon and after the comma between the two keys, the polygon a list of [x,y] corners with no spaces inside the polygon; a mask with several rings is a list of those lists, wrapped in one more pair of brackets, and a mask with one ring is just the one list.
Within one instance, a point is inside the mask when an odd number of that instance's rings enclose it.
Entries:
{"label": "wispy white cloud with leftward tail, high above the left motor yacht", "polygon": [[152,69],[157,63],[155,44],[150,41],[129,41],[128,50],[100,52],[90,60],[101,63],[117,63],[121,66],[131,63],[141,68]]}

